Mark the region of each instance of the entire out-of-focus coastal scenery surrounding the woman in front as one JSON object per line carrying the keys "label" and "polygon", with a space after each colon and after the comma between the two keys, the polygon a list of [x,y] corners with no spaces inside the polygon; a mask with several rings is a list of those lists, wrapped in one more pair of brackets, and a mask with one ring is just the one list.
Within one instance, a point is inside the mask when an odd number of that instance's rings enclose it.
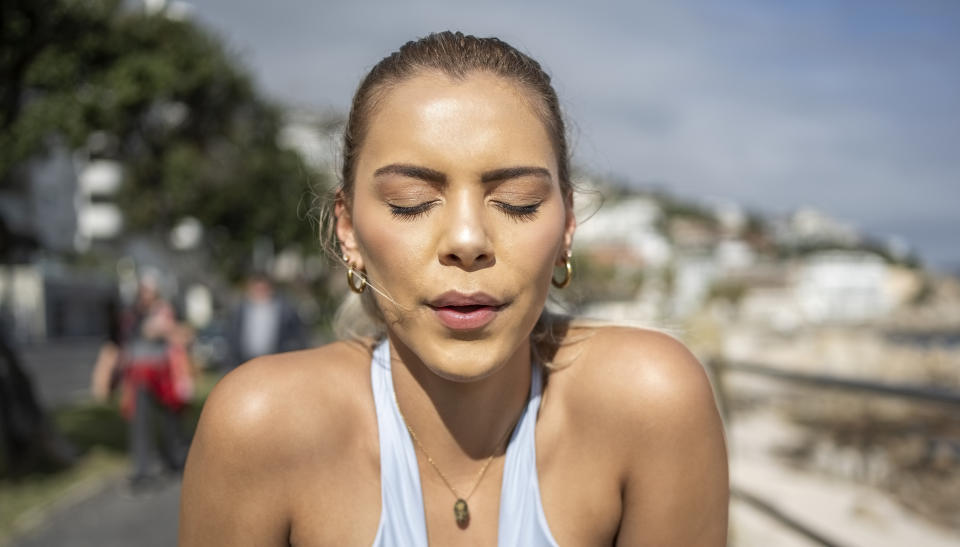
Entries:
{"label": "entire out-of-focus coastal scenery surrounding the woman in front", "polygon": [[315,212],[353,90],[446,29],[553,76],[582,189],[559,304],[698,354],[729,544],[960,543],[955,2],[2,10],[0,545],[175,543],[206,393],[333,336]]}

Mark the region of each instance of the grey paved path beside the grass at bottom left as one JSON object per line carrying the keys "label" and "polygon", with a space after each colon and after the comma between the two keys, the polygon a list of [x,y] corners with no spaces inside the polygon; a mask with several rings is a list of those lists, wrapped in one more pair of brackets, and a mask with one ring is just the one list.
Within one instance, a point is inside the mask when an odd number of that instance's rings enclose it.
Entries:
{"label": "grey paved path beside the grass at bottom left", "polygon": [[168,547],[177,544],[179,480],[132,495],[123,480],[55,509],[11,547]]}

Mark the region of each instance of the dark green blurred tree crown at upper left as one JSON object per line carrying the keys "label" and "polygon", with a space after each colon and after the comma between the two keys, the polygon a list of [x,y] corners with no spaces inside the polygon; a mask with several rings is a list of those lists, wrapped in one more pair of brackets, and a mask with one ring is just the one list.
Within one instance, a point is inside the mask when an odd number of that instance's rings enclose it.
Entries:
{"label": "dark green blurred tree crown at upper left", "polygon": [[282,120],[216,36],[122,0],[4,0],[0,187],[54,139],[119,160],[128,232],[185,216],[214,238],[228,277],[254,240],[315,248],[301,214],[317,173],[277,144]]}

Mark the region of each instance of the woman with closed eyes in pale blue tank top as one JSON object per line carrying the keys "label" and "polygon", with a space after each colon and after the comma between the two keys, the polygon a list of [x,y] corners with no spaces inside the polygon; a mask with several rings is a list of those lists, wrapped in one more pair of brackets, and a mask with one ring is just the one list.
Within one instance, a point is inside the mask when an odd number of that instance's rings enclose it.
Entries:
{"label": "woman with closed eyes in pale blue tank top", "polygon": [[343,155],[327,234],[349,330],[217,385],[180,544],[725,545],[702,366],[545,307],[576,220],[540,65],[495,38],[409,42],[361,83]]}

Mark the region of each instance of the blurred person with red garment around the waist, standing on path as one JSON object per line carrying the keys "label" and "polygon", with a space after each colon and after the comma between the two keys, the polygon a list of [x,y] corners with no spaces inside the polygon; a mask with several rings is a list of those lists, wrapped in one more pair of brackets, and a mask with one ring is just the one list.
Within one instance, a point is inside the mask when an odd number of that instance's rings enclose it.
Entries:
{"label": "blurred person with red garment around the waist, standing on path", "polygon": [[109,395],[111,385],[119,384],[120,410],[129,422],[129,481],[134,490],[158,478],[157,455],[168,471],[183,469],[187,440],[181,411],[193,395],[189,341],[189,329],[160,295],[157,277],[144,274],[136,300],[121,313],[116,340],[103,345],[93,374],[93,394],[100,400]]}

